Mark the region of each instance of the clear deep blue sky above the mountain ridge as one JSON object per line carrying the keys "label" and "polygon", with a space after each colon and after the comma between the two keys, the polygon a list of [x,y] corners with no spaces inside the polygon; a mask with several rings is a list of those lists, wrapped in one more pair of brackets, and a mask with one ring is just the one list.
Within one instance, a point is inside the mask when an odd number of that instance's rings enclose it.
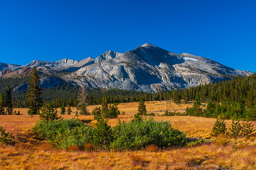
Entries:
{"label": "clear deep blue sky above the mountain ridge", "polygon": [[256,1],[0,1],[0,62],[96,58],[146,42],[256,71]]}

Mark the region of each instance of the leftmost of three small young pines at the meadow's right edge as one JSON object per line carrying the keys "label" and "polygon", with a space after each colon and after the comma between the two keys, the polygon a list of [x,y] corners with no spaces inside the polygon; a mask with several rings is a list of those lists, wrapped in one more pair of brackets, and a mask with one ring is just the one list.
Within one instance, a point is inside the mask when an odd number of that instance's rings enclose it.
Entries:
{"label": "leftmost of three small young pines at the meadow's right edge", "polygon": [[217,137],[220,134],[226,134],[226,122],[222,116],[217,117],[217,120],[210,133],[212,137]]}

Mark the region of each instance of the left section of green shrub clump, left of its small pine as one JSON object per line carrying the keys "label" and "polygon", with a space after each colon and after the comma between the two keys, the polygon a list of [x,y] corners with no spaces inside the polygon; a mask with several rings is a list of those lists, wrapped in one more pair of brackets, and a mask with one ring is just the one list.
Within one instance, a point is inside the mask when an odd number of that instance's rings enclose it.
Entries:
{"label": "left section of green shrub clump, left of its small pine", "polygon": [[85,143],[93,141],[93,128],[75,118],[39,121],[31,130],[38,137],[47,138],[59,148],[67,149],[70,146],[82,148]]}

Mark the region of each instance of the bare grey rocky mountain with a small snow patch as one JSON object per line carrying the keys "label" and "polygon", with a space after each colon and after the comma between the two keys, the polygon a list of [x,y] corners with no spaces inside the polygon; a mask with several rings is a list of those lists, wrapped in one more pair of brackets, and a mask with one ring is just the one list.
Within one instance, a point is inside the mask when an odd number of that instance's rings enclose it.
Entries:
{"label": "bare grey rocky mountain with a small snow patch", "polygon": [[[42,75],[42,87],[45,88],[65,81],[76,84],[83,82],[89,88],[144,92],[188,88],[252,74],[250,71],[231,69],[208,58],[187,53],[175,54],[152,44],[144,44],[125,53],[109,50],[96,59],[32,61],[28,65],[12,66],[13,72],[5,76],[20,76],[22,71],[19,70],[34,66]],[[0,67],[1,73],[7,68],[7,65]]]}

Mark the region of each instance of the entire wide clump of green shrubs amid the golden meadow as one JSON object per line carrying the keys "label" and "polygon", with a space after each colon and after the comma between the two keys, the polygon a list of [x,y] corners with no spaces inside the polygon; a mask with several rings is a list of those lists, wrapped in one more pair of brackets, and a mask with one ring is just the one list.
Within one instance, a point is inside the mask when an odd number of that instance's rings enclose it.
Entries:
{"label": "entire wide clump of green shrubs amid the golden meadow", "polygon": [[[99,110],[100,111],[100,110]],[[39,121],[31,129],[40,138],[67,150],[92,151],[94,147],[107,150],[147,150],[184,146],[185,133],[172,128],[169,121],[142,119],[139,114],[130,122],[121,122],[111,128],[108,120],[99,114],[96,128],[86,126],[79,120],[63,119]],[[150,148],[154,146],[154,148]]]}

